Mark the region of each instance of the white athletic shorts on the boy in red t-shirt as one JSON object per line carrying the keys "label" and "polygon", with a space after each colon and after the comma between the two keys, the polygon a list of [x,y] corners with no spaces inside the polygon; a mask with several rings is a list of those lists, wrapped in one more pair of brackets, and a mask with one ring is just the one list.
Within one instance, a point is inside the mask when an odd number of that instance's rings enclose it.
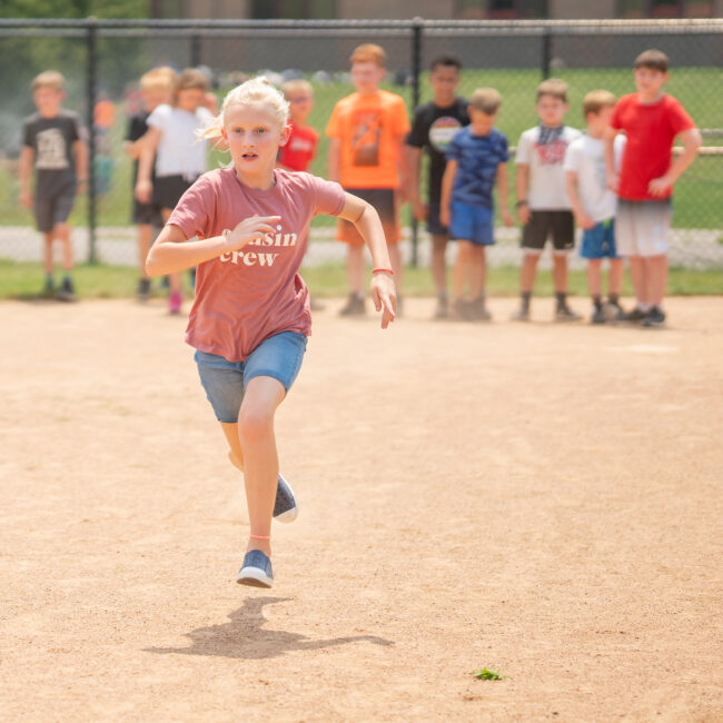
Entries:
{"label": "white athletic shorts on the boy in red t-shirt", "polygon": [[667,254],[671,228],[671,199],[650,201],[617,200],[615,236],[622,256],[662,256]]}

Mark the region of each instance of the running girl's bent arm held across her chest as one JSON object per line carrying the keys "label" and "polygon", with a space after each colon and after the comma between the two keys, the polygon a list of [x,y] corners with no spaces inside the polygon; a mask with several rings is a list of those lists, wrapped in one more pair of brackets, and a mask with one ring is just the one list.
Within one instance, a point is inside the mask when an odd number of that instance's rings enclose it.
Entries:
{"label": "running girl's bent arm held across her chest", "polygon": [[276,224],[280,220],[280,216],[251,216],[222,236],[188,242],[185,242],[186,236],[178,226],[166,225],[148,252],[146,274],[175,274],[218,258],[221,254],[238,251],[266,234],[276,234]]}

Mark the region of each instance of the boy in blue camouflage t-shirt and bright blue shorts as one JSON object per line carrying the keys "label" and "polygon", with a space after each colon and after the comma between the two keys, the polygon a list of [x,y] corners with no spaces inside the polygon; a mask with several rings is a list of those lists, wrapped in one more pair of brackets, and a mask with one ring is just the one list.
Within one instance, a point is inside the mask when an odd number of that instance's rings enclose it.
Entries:
{"label": "boy in blue camouflage t-shirt and bright blue shorts", "polygon": [[[488,321],[485,305],[487,264],[485,246],[494,238],[494,201],[497,186],[505,226],[514,220],[507,210],[506,136],[494,128],[502,96],[494,88],[478,88],[469,99],[469,126],[453,138],[442,179],[440,220],[458,242],[453,271],[455,315],[467,320]],[[469,288],[469,299],[464,296]]]}

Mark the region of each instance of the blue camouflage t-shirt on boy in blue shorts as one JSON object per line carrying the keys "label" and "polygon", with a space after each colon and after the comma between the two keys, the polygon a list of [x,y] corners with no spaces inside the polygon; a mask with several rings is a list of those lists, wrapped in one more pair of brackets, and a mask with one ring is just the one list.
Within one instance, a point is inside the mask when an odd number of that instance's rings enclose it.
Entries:
{"label": "blue camouflage t-shirt on boy in blue shorts", "polygon": [[493,208],[497,166],[508,159],[507,137],[503,132],[493,128],[486,136],[476,136],[472,126],[463,128],[447,149],[447,160],[457,161],[452,202]]}

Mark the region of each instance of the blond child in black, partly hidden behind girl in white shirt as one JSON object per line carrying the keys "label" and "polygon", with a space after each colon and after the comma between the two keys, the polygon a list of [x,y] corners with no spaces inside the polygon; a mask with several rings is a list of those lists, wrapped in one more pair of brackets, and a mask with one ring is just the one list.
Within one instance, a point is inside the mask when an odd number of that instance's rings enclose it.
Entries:
{"label": "blond child in black, partly hidden behind girl in white shirt", "polygon": [[[176,72],[172,68],[153,68],[140,79],[140,93],[143,99],[143,109],[131,116],[128,121],[126,136],[126,152],[133,159],[132,188],[136,188],[138,178],[138,158],[142,150],[143,137],[148,130],[146,120],[148,116],[162,103],[169,103],[174,95]],[[146,274],[146,257],[150,249],[153,228],[162,228],[164,219],[160,207],[155,204],[143,204],[133,196],[133,224],[138,226],[138,261],[140,278],[136,296],[145,300],[150,296],[150,279]]]}

